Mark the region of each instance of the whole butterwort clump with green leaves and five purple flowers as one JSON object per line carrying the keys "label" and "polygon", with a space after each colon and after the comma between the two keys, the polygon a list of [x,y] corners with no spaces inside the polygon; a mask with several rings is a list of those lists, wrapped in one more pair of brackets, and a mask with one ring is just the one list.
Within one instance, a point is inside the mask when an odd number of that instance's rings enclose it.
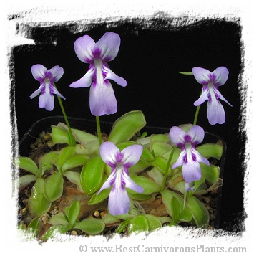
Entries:
{"label": "whole butterwort clump with green leaves and five purple flowers", "polygon": [[[221,141],[203,143],[207,133],[197,125],[197,117],[200,104],[208,100],[209,123],[225,123],[219,99],[228,101],[218,86],[228,79],[227,68],[210,72],[193,67],[192,72],[181,72],[193,75],[203,85],[194,103],[197,110],[193,123],[174,124],[165,133],[147,134],[144,114],[132,110],[114,122],[107,136],[102,136],[99,117],[117,112],[109,80],[122,87],[127,85],[107,64],[117,57],[119,46],[120,37],[113,32],[105,33],[96,43],[89,35],[74,43],[77,57],[88,63],[89,69],[70,87],[90,87],[89,105],[97,121],[97,133],[69,125],[61,100],[65,98],[54,84],[64,75],[63,68],[47,70],[40,64],[31,67],[41,84],[30,98],[41,93],[39,108],[52,111],[53,94],[57,95],[65,121],[52,125],[51,150],[38,161],[28,156],[15,161],[20,169],[19,190],[31,187],[26,200],[30,221],[26,218],[20,226],[39,239],[47,240],[55,232],[92,235],[107,234],[110,229],[130,234],[151,232],[165,225],[211,227],[202,198],[223,184],[217,163],[225,148]],[[68,188],[72,197],[65,201]],[[52,212],[52,207],[57,212]],[[42,222],[47,228],[41,227]]]}

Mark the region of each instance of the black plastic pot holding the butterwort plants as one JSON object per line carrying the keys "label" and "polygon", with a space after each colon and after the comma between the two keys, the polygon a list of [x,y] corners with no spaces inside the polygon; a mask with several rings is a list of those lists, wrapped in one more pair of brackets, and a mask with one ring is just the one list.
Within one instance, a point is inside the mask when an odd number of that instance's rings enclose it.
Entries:
{"label": "black plastic pot holding the butterwort plants", "polygon": [[[89,133],[95,133],[97,131],[97,125],[95,120],[87,120],[82,118],[68,118],[69,125],[72,128],[76,128],[79,130],[87,131]],[[62,116],[50,116],[47,118],[42,118],[33,125],[31,128],[25,133],[21,141],[19,141],[19,155],[20,156],[28,156],[29,145],[34,143],[35,139],[39,137],[39,133],[41,131],[51,131],[52,125],[57,125],[59,122],[65,123],[64,118]],[[102,133],[107,133],[112,129],[113,123],[110,122],[100,122]],[[147,132],[147,136],[151,134],[159,134],[159,133],[169,133],[170,128],[161,128],[161,127],[153,127],[153,126],[145,126],[142,131]],[[141,131],[141,132],[142,132]],[[216,143],[218,140],[222,141],[223,143],[223,155],[220,158],[218,166],[220,166],[220,178],[223,179],[223,172],[224,172],[224,163],[225,163],[225,153],[226,153],[226,144],[225,141],[220,138],[219,136],[213,133],[205,133],[205,138],[203,143]],[[220,202],[222,197],[222,187],[218,188],[218,202],[215,214],[215,225],[214,228],[220,228]]]}

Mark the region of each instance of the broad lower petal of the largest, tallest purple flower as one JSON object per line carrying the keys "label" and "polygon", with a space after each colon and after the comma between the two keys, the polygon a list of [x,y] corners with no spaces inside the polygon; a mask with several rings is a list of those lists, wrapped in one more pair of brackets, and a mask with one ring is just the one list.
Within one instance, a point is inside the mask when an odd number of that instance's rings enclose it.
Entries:
{"label": "broad lower petal of the largest, tallest purple flower", "polygon": [[90,87],[90,110],[95,116],[117,112],[117,99],[109,80],[103,80],[103,84],[93,82]]}

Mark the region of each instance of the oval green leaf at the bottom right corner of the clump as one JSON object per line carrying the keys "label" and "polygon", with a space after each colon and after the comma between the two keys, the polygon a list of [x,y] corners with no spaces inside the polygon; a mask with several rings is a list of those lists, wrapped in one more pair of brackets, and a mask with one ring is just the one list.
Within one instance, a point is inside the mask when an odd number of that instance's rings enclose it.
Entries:
{"label": "oval green leaf at the bottom right corner of the clump", "polygon": [[192,213],[197,227],[206,228],[209,224],[210,217],[205,204],[200,202],[195,196],[190,196],[187,198],[187,206]]}

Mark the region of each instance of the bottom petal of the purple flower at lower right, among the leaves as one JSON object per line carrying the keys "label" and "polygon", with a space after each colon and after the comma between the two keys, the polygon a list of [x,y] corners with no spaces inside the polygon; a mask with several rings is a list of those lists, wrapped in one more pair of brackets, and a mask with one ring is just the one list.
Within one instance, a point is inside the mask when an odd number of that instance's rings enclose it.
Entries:
{"label": "bottom petal of the purple flower at lower right, among the leaves", "polygon": [[187,161],[182,165],[182,176],[185,182],[199,181],[201,179],[200,163],[197,161]]}

